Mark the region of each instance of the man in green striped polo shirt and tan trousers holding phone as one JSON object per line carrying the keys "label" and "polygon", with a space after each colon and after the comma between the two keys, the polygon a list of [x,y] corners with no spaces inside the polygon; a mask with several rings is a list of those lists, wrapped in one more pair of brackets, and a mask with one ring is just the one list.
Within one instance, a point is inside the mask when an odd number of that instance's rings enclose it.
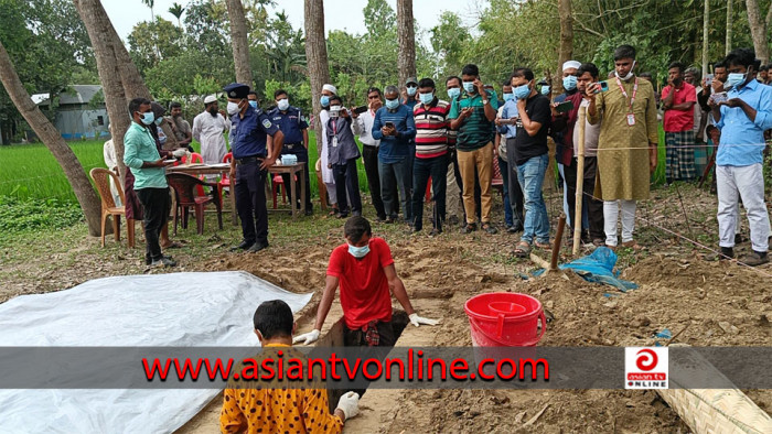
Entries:
{"label": "man in green striped polo shirt and tan trousers holding phone", "polygon": [[474,182],[476,167],[480,182],[482,207],[482,228],[489,234],[496,234],[491,224],[491,180],[493,178],[493,138],[498,102],[495,95],[485,90],[480,80],[476,65],[469,64],[461,72],[465,95],[453,100],[450,109],[450,128],[458,130],[455,149],[458,151],[459,171],[463,182],[463,204],[467,211],[467,226],[461,231],[469,234],[476,230],[474,221]]}

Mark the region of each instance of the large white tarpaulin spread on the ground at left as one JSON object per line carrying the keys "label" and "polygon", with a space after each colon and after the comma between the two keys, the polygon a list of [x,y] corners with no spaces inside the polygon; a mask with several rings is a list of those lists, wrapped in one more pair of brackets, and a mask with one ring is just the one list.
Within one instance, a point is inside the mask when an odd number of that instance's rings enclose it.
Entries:
{"label": "large white tarpaulin spread on the ground at left", "polygon": [[[255,308],[277,299],[297,313],[311,294],[293,294],[240,271],[98,279],[0,304],[0,346],[256,347]],[[0,390],[0,432],[168,433],[217,393]]]}

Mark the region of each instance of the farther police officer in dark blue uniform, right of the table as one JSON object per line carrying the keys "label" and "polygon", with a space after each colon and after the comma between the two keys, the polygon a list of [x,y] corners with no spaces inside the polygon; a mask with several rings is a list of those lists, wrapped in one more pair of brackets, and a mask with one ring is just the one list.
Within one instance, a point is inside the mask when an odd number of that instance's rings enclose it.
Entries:
{"label": "farther police officer in dark blue uniform, right of the table", "polygon": [[[305,120],[303,120],[300,109],[289,105],[287,90],[278,89],[274,93],[274,99],[276,100],[276,108],[268,112],[268,117],[285,134],[285,145],[281,148],[281,154],[296,155],[298,158],[298,163],[305,163],[305,167],[303,169],[305,172],[305,197],[302,199],[305,200],[305,215],[310,216],[313,214],[313,205],[311,204],[311,182],[309,178],[308,164],[309,126],[305,123]],[[289,187],[290,174],[282,173],[281,177],[285,181],[287,194],[290,196],[290,203],[292,203],[292,189]],[[298,183],[300,183],[300,180],[298,180]],[[300,194],[300,185],[298,185],[297,192]]]}

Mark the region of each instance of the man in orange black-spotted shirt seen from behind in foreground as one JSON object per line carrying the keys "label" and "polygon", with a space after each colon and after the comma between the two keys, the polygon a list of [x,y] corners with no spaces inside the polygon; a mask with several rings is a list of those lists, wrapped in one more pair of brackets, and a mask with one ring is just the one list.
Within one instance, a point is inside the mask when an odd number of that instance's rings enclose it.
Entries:
{"label": "man in orange black-spotted shirt seen from behind in foreground", "polygon": [[[278,360],[305,356],[293,350],[292,334],[296,324],[292,311],[281,300],[265,302],[257,307],[253,318],[255,334],[262,351],[256,358],[258,366],[268,358]],[[236,372],[242,370],[242,366]],[[219,412],[219,430],[223,433],[340,433],[343,423],[360,412],[360,395],[345,393],[337,408],[330,413],[328,391],[323,384],[304,388],[285,379],[270,384],[249,384],[244,380],[228,383]]]}

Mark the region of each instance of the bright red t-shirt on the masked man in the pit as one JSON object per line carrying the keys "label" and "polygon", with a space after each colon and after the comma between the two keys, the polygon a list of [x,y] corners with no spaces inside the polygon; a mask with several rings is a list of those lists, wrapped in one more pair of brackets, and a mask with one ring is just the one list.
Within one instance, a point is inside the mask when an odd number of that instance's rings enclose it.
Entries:
{"label": "bright red t-shirt on the masked man in the pit", "polygon": [[371,238],[369,253],[362,259],[349,253],[347,243],[332,251],[328,275],[340,281],[346,327],[355,330],[371,321],[392,321],[392,294],[384,268],[393,263],[392,250],[383,238]]}

